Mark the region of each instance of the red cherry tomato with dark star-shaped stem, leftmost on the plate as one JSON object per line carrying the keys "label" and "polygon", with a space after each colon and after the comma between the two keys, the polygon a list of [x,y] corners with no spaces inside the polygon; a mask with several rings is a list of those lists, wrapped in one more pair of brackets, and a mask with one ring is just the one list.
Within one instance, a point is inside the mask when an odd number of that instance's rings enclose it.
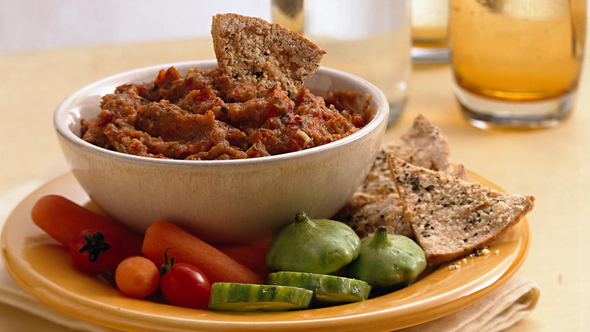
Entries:
{"label": "red cherry tomato with dark star-shaped stem, leftmost on the plate", "polygon": [[102,229],[85,229],[70,243],[74,266],[84,272],[113,271],[122,261],[119,236]]}

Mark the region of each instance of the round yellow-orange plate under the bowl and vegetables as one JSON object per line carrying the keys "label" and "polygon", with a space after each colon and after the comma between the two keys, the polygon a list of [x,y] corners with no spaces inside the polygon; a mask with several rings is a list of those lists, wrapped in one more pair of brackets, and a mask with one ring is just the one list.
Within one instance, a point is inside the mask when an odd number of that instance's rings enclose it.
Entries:
{"label": "round yellow-orange plate under the bowl and vegetables", "polygon": [[[476,174],[469,175],[499,189]],[[45,304],[122,330],[396,330],[454,313],[485,297],[516,272],[529,246],[529,227],[522,220],[490,247],[490,255],[468,257],[454,271],[448,264],[442,265],[407,288],[368,301],[281,313],[194,310],[124,297],[108,282],[74,269],[67,250],[31,220],[31,207],[47,194],[89,203],[71,173],[25,198],[2,231],[6,269],[22,288]]]}

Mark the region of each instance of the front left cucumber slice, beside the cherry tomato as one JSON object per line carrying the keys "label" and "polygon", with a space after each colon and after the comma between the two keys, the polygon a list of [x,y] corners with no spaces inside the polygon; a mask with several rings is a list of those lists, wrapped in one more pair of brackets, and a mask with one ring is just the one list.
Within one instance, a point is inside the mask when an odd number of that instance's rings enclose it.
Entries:
{"label": "front left cucumber slice, beside the cherry tomato", "polygon": [[209,310],[284,311],[309,307],[313,292],[308,289],[215,282],[211,286]]}

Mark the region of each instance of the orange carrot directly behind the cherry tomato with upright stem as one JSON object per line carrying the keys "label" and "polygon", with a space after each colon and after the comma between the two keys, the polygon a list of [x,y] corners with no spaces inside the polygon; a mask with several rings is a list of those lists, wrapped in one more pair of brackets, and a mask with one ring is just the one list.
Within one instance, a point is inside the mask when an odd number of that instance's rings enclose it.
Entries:
{"label": "orange carrot directly behind the cherry tomato with upright stem", "polygon": [[164,252],[174,257],[175,262],[188,263],[203,271],[214,282],[240,282],[262,284],[263,281],[251,269],[234,261],[225,253],[192,236],[169,222],[156,222],[146,230],[142,252],[156,266],[164,263]]}

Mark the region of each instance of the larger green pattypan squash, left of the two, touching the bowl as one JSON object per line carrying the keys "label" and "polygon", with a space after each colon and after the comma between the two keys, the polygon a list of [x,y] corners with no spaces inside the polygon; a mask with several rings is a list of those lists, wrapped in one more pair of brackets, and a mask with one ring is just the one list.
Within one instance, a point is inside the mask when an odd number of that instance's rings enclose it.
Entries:
{"label": "larger green pattypan squash, left of the two, touching the bowl", "polygon": [[333,274],[359,253],[360,239],[348,225],[299,212],[268,245],[266,265],[271,271]]}

